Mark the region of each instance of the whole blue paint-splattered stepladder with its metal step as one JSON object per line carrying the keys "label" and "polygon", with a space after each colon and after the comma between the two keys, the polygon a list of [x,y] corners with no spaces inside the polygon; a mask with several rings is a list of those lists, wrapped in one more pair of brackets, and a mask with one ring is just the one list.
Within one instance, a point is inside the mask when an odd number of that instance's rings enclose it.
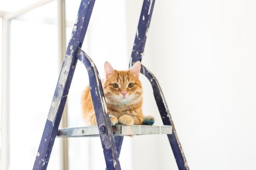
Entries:
{"label": "whole blue paint-splattered stepladder with its metal step", "polygon": [[[106,169],[121,170],[118,157],[122,146],[123,136],[147,134],[166,134],[173,150],[178,169],[189,170],[161,88],[156,77],[145,66],[141,65],[140,72],[148,78],[152,85],[155,100],[164,126],[111,126],[98,70],[92,59],[81,50],[94,3],[95,0],[81,0],[78,16],[59,74],[59,80],[45,123],[33,170],[46,170],[56,137],[80,136],[99,136],[105,157]],[[146,42],[146,33],[149,28],[154,4],[155,0],[143,1],[129,67],[132,67],[135,62],[141,61],[142,59],[142,53]],[[90,86],[93,87],[90,90],[98,126],[59,129],[59,122],[78,60],[80,60],[87,68]]]}

